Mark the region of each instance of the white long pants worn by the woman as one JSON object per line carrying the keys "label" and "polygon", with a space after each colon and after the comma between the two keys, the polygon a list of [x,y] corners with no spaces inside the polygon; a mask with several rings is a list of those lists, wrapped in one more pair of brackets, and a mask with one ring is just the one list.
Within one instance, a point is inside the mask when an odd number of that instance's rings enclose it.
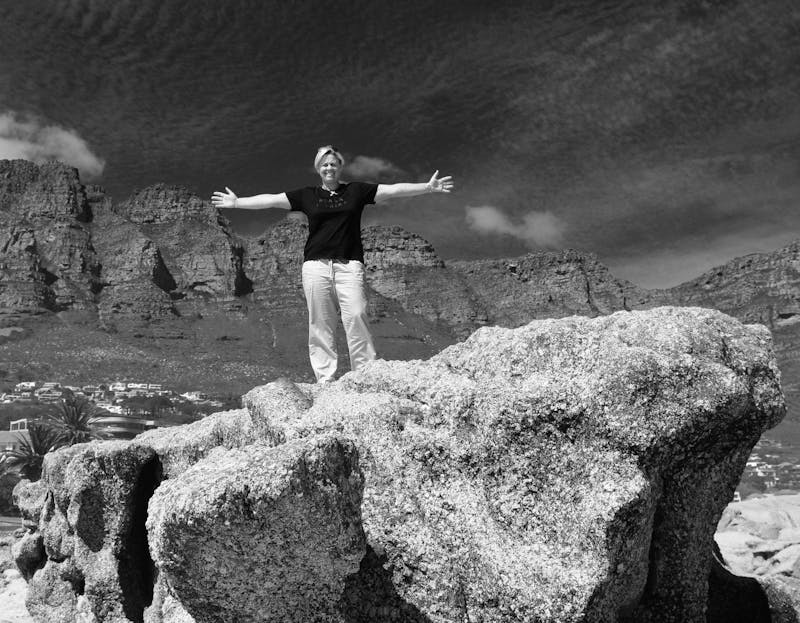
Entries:
{"label": "white long pants worn by the woman", "polygon": [[308,304],[308,356],[317,382],[332,381],[336,372],[336,323],[341,311],[350,368],[375,359],[367,325],[364,265],[356,260],[303,262],[303,291]]}

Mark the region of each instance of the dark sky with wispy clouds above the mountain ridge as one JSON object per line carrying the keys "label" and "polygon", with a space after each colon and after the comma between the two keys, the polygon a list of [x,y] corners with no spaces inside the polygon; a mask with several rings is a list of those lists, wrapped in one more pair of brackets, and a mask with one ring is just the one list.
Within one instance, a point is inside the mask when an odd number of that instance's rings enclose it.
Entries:
{"label": "dark sky with wispy clouds above the mountain ridge", "polygon": [[[452,175],[445,259],[574,248],[668,287],[800,237],[796,0],[0,0],[0,158],[117,201]],[[285,213],[226,211],[257,236]]]}

